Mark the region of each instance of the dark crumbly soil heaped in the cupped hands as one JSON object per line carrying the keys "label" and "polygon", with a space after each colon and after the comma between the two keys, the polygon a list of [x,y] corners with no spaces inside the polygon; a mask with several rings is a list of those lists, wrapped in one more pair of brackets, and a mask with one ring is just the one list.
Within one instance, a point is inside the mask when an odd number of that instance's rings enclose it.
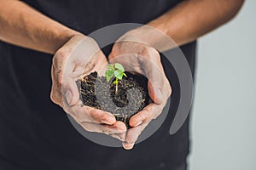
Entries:
{"label": "dark crumbly soil heaped in the cupped hands", "polygon": [[127,77],[119,80],[117,88],[113,84],[114,79],[107,82],[106,77],[97,77],[96,72],[78,80],[77,84],[84,105],[108,111],[129,127],[131,116],[142,111],[151,99],[146,77],[129,72],[125,74]]}

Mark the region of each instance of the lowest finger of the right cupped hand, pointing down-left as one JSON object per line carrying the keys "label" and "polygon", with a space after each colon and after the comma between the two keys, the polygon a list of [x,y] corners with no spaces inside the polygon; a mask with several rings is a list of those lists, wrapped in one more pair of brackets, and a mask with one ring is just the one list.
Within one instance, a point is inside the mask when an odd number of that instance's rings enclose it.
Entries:
{"label": "lowest finger of the right cupped hand, pointing down-left", "polygon": [[145,122],[140,126],[130,128],[125,137],[125,142],[123,142],[123,147],[125,150],[131,150],[137,141],[139,135],[143,132],[144,128],[148,126],[149,122]]}

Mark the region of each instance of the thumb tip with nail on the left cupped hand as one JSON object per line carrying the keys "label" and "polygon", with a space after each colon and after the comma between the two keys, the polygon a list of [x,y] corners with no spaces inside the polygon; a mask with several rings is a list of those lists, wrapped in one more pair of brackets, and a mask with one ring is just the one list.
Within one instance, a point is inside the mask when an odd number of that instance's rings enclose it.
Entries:
{"label": "thumb tip with nail on the left cupped hand", "polygon": [[77,83],[69,79],[67,83],[62,86],[63,99],[68,105],[73,106],[79,102],[79,88]]}

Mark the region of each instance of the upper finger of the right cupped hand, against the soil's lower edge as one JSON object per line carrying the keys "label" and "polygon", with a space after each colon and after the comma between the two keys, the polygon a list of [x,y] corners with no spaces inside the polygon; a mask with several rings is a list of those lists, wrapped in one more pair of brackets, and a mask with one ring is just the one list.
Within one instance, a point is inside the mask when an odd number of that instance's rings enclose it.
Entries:
{"label": "upper finger of the right cupped hand, against the soil's lower edge", "polygon": [[148,122],[152,119],[152,116],[154,114],[154,110],[156,110],[157,105],[155,105],[154,103],[147,105],[143,111],[139,111],[136,115],[131,116],[130,119],[130,126],[131,127],[137,127],[140,124],[143,124],[144,122]]}

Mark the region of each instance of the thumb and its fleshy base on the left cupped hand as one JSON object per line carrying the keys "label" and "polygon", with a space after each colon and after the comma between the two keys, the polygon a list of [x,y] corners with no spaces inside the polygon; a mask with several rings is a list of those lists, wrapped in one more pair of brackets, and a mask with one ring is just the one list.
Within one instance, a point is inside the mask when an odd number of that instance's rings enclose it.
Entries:
{"label": "thumb and its fleshy base on the left cupped hand", "polygon": [[79,91],[76,82],[73,80],[74,76],[83,70],[90,71],[95,68],[96,63],[93,61],[96,59],[94,55],[99,55],[100,49],[95,40],[90,37],[71,39],[65,47],[69,48],[61,48],[53,58],[54,78],[57,80],[58,87],[61,89],[67,104],[75,105],[79,100]]}

